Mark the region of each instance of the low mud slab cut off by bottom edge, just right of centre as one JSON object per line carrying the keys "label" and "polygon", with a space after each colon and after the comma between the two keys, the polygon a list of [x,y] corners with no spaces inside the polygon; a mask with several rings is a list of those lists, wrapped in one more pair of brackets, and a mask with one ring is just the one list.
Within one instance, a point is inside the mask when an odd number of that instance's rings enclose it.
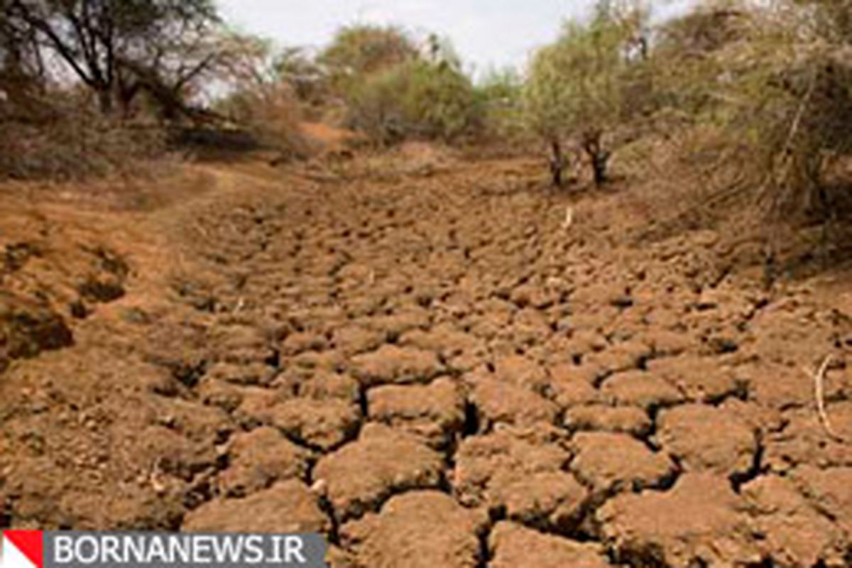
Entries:
{"label": "low mud slab cut off by bottom edge, just right of centre", "polygon": [[501,522],[488,538],[492,568],[607,568],[600,545],[545,535],[515,523]]}

